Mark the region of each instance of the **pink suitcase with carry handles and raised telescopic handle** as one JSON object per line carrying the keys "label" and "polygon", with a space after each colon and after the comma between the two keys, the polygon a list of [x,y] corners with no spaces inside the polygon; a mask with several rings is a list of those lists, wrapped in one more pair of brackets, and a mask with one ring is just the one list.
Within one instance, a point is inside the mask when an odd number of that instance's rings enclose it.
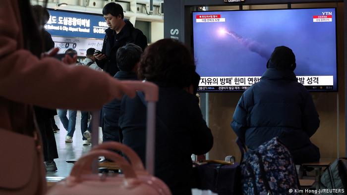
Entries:
{"label": "pink suitcase with carry handles and raised telescopic handle", "polygon": [[[117,142],[108,142],[98,145],[98,112],[93,113],[93,148],[83,155],[73,166],[70,175],[53,186],[48,195],[171,195],[168,186],[160,179],[154,177],[154,151],[155,151],[155,103],[158,101],[158,87],[149,82],[126,81],[122,82],[134,91],[143,91],[147,105],[147,170],[138,155],[128,146]],[[107,149],[123,152],[130,163],[119,154]],[[98,156],[112,159],[122,170],[123,174],[110,177],[106,174],[97,174]]]}

